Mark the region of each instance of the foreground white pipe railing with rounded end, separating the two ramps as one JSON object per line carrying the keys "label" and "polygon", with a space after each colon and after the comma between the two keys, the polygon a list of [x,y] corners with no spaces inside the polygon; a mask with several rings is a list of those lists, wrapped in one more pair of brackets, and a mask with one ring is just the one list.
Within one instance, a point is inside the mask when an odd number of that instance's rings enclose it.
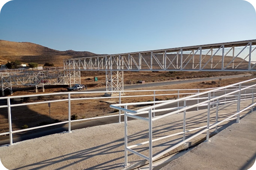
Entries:
{"label": "foreground white pipe railing with rounded end, separating the two ramps", "polygon": [[[225,87],[211,89],[208,91],[193,94],[193,95],[179,98],[176,100],[166,101],[163,103],[157,103],[156,105],[153,105],[153,106],[139,108],[137,110],[128,109],[128,106],[137,105],[139,103],[123,103],[123,104],[110,105],[111,108],[124,111],[124,131],[125,131],[125,134],[124,134],[124,136],[125,136],[125,144],[124,144],[125,162],[124,162],[124,164],[125,164],[125,166],[129,165],[128,164],[128,151],[142,157],[143,159],[148,160],[149,161],[149,169],[152,169],[152,162],[154,160],[160,158],[164,154],[172,151],[173,149],[185,144],[186,142],[191,141],[195,137],[206,132],[207,133],[206,141],[209,141],[211,129],[215,128],[215,131],[217,132],[218,126],[220,124],[224,123],[225,121],[231,121],[231,120],[236,119],[236,122],[240,122],[240,117],[241,117],[240,113],[242,113],[246,110],[248,111],[248,109],[251,110],[251,112],[252,112],[253,107],[256,105],[256,102],[254,101],[255,93],[253,92],[256,84],[254,83],[249,86],[242,86],[242,85],[245,83],[253,82],[255,80],[256,79],[251,79],[251,80],[236,83],[233,85],[228,85]],[[223,91],[223,90],[225,91],[224,94],[223,94],[223,92],[221,93],[221,91]],[[247,92],[242,94],[246,90],[247,90]],[[198,101],[198,98],[202,99],[202,101]],[[194,100],[197,102],[187,105],[188,100]],[[249,105],[245,106],[245,108],[241,109],[240,103],[241,103],[241,101],[244,101],[244,100],[249,100],[249,102],[251,100],[251,102]],[[179,103],[179,102],[183,102],[183,106],[173,107],[173,104],[176,105],[176,103]],[[145,103],[145,102],[142,102],[142,103]],[[236,105],[237,105],[236,112],[231,115],[228,115],[228,117],[226,116],[225,118],[222,118],[222,120],[220,120],[218,117],[219,105],[226,104],[226,103],[236,103]],[[205,119],[207,125],[205,125],[205,126],[201,125],[200,127],[196,127],[193,129],[190,128],[189,130],[187,130],[186,129],[186,111],[191,110],[193,108],[195,109],[197,107],[202,107],[202,106],[205,106],[207,108],[207,118]],[[216,107],[215,115],[211,115],[212,116],[211,121],[213,119],[215,119],[215,122],[212,124],[210,124],[211,106]],[[155,117],[154,113],[157,113],[157,112],[166,112],[166,113]],[[158,138],[156,138],[157,136],[153,136],[152,123],[154,121],[164,119],[167,116],[172,116],[174,114],[178,114],[181,112],[183,112],[183,129],[180,130],[180,132],[173,133],[173,134],[170,134],[167,136],[161,136]],[[143,114],[147,113],[148,116],[146,118],[138,116],[138,114],[142,114],[142,113]],[[128,146],[128,132],[127,132],[127,127],[128,127],[127,126],[127,118],[128,117],[148,122],[148,140],[147,141]],[[202,124],[202,123],[200,123],[200,124]],[[200,131],[198,131],[198,130],[200,130]],[[186,134],[188,134],[189,132],[192,132],[192,131],[196,131],[196,132],[192,136],[186,138]],[[170,130],[170,133],[171,133],[171,130]],[[162,139],[166,139],[166,138],[170,138],[173,136],[177,136],[177,135],[183,135],[183,138],[181,141],[179,141],[172,147],[162,150],[160,152],[158,151],[157,153],[155,153],[155,155],[153,155],[153,142],[159,141]],[[154,137],[154,139],[153,139],[153,137]],[[145,145],[145,144],[149,145],[149,147],[148,147],[149,154],[148,155],[143,155],[134,150],[135,147]]]}

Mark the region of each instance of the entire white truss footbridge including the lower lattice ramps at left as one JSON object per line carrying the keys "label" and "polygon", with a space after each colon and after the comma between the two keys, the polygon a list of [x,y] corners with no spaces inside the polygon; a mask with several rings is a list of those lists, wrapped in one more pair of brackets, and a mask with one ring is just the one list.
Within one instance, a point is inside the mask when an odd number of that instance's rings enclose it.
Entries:
{"label": "entire white truss footbridge including the lower lattice ramps at left", "polygon": [[256,40],[246,40],[66,59],[62,70],[0,72],[0,87],[79,84],[80,71],[105,71],[106,91],[118,91],[124,71],[256,71],[255,49]]}

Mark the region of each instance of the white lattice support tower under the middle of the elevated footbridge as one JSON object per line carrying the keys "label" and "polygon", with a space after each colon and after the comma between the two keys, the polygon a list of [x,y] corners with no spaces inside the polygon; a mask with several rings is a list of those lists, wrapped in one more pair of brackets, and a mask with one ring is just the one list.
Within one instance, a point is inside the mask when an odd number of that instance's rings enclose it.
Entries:
{"label": "white lattice support tower under the middle of the elevated footbridge", "polygon": [[[123,91],[124,90],[124,72],[123,71],[106,71],[106,91]],[[107,96],[113,96],[114,92],[106,93]],[[119,93],[117,93],[119,95]]]}

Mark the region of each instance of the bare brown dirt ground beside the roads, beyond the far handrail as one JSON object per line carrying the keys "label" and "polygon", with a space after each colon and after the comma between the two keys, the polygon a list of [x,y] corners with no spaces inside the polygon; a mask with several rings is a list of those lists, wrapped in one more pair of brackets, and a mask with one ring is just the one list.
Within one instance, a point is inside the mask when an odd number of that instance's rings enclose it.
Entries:
{"label": "bare brown dirt ground beside the roads, beyond the far handrail", "polygon": [[[104,77],[105,78],[105,77]],[[140,77],[141,78],[141,77]],[[245,81],[255,78],[255,76],[248,76],[243,78],[236,78],[236,79],[225,79],[222,80],[221,86],[234,84],[237,82]],[[82,78],[83,80],[81,83],[87,84],[92,87],[88,87],[89,89],[95,89],[101,88],[105,85],[103,85],[103,80],[101,80],[96,84],[93,82],[93,80],[86,80],[87,77]],[[85,81],[86,80],[86,81]],[[102,81],[102,82],[101,82]],[[211,81],[208,81],[211,82]],[[95,85],[96,84],[96,85]],[[94,86],[93,86],[94,85]],[[96,87],[95,87],[96,86]],[[97,87],[98,86],[98,87]],[[202,82],[197,83],[187,83],[187,84],[178,84],[178,85],[166,85],[166,86],[154,86],[154,87],[148,87],[148,88],[137,88],[133,90],[155,90],[155,89],[161,89],[162,91],[157,91],[156,94],[173,94],[177,93],[177,90],[175,91],[167,91],[167,89],[193,89],[193,88],[213,88],[218,87],[218,82],[215,85],[207,85],[202,84]],[[44,93],[55,93],[55,92],[61,92],[61,91],[67,91],[66,88],[52,88],[52,89],[45,89]],[[86,90],[83,90],[86,91]],[[182,93],[191,93],[196,92],[197,90],[182,90],[180,92]],[[42,92],[39,92],[42,93]],[[28,91],[16,91],[14,92],[14,95],[24,95],[24,94],[36,94],[34,90],[28,90]],[[153,91],[143,91],[143,92],[126,92],[125,96],[129,95],[153,95]],[[188,94],[180,95],[186,96]],[[18,99],[15,101],[11,101],[12,104],[19,104],[19,103],[27,103],[27,102],[35,102],[35,101],[50,101],[50,100],[58,100],[58,99],[67,99],[67,95],[65,96],[49,96],[49,98],[46,97],[37,97],[37,99]],[[74,94],[72,95],[72,98],[89,98],[89,97],[105,97],[103,93],[86,93],[86,94]],[[177,98],[177,95],[163,95],[163,96],[157,96],[157,100],[168,100]],[[71,115],[77,116],[78,119],[82,118],[91,118],[106,114],[114,114],[118,113],[117,110],[114,110],[109,107],[110,104],[108,101],[111,101],[113,103],[118,103],[118,98],[105,98],[105,99],[83,99],[83,100],[72,100],[71,101]],[[142,101],[153,101],[153,96],[146,96],[146,97],[123,97],[122,103],[129,103],[129,102],[142,102]],[[12,130],[19,130],[26,127],[35,127],[39,125],[45,125],[50,124],[54,122],[59,121],[65,121],[68,120],[68,101],[59,101],[59,102],[51,102],[50,106],[50,113],[49,113],[49,107],[48,103],[43,104],[32,104],[32,105],[26,105],[26,106],[16,106],[11,108],[11,114],[12,114]],[[23,127],[22,127],[23,126]],[[8,112],[7,108],[1,108],[0,112],[0,133],[7,132],[8,130]]]}

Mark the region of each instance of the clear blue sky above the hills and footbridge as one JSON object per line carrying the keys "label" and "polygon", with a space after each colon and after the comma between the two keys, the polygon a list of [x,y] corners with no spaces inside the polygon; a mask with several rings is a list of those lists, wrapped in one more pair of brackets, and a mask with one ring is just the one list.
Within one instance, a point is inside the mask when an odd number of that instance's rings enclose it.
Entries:
{"label": "clear blue sky above the hills and footbridge", "polygon": [[13,0],[0,39],[55,50],[118,54],[256,39],[243,0]]}

